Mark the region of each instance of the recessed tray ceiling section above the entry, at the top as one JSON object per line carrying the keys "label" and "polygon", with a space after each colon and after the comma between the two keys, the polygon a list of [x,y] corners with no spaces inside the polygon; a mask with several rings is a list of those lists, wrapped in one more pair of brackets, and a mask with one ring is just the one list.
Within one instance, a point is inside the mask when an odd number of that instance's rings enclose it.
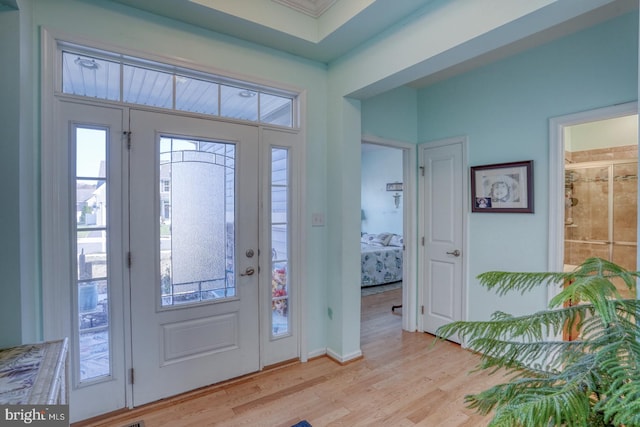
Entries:
{"label": "recessed tray ceiling section above the entry, at the top", "polygon": [[434,0],[111,0],[329,63]]}

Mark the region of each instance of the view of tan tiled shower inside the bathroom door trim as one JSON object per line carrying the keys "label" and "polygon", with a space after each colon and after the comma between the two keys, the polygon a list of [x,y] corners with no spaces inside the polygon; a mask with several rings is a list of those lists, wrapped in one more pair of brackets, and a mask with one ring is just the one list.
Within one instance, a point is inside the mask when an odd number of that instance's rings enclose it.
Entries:
{"label": "view of tan tiled shower inside the bathroom door trim", "polygon": [[[637,114],[567,126],[564,148],[565,270],[599,257],[635,271]],[[636,297],[623,284],[618,290]]]}

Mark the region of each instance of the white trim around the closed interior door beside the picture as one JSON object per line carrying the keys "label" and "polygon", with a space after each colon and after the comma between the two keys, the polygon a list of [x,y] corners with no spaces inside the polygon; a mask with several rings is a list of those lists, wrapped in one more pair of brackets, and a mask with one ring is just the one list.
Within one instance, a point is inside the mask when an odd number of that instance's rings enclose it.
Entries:
{"label": "white trim around the closed interior door beside the picture", "polygon": [[[463,221],[462,221],[462,251],[463,254],[468,253],[468,239],[467,239],[467,233],[468,233],[468,223],[469,223],[469,174],[468,174],[468,161],[467,161],[467,146],[468,146],[468,138],[466,136],[457,136],[457,137],[451,137],[451,138],[445,138],[445,139],[439,139],[439,140],[434,140],[434,141],[427,141],[427,142],[422,142],[420,144],[418,144],[418,150],[420,153],[422,153],[423,150],[425,149],[429,149],[429,148],[437,148],[437,147],[444,147],[444,146],[448,146],[448,145],[453,145],[453,144],[461,144],[462,145],[462,166],[463,166],[463,170],[464,172],[464,176],[462,177],[462,211],[463,211]],[[422,173],[421,171],[424,170],[425,165],[423,165],[422,163],[422,158],[419,159],[419,163],[418,163],[418,173]],[[418,183],[418,194],[419,195],[423,195],[425,193],[425,180],[419,180]],[[418,198],[418,217],[419,217],[419,221],[418,221],[418,237],[417,239],[419,239],[419,236],[423,236],[425,234],[425,224],[424,224],[424,214],[426,211],[426,200],[424,200],[423,197],[419,197]],[[425,258],[426,256],[426,247],[421,244],[420,242],[418,243],[418,259],[422,260]],[[425,266],[424,263],[422,262],[418,262],[418,271],[417,271],[417,277],[424,277],[425,274]],[[467,319],[467,299],[468,299],[468,294],[467,294],[467,282],[468,282],[468,257],[463,255],[462,258],[462,289],[461,289],[461,295],[462,295],[462,307],[461,307],[461,314],[462,314],[462,319],[460,320],[466,320]],[[424,301],[424,286],[417,286],[417,301]],[[421,314],[418,314],[418,318],[420,319],[420,321],[418,322],[418,331],[420,332],[425,332],[425,328],[424,328],[424,316],[422,316]]]}

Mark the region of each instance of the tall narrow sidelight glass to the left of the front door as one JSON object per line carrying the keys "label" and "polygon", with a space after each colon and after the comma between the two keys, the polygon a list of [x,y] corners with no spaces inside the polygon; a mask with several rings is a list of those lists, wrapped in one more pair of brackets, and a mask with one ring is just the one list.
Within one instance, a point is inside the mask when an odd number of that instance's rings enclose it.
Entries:
{"label": "tall narrow sidelight glass to the left of the front door", "polygon": [[108,129],[77,126],[75,136],[76,309],[80,381],[111,373]]}

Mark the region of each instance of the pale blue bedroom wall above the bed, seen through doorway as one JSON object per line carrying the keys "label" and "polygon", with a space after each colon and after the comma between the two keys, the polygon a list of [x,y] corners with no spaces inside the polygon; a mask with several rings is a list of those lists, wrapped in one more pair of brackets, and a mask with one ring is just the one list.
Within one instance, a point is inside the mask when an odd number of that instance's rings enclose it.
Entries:
{"label": "pale blue bedroom wall above the bed, seen through doorway", "polygon": [[[402,150],[378,147],[362,152],[362,231],[402,235],[402,191],[387,191],[387,183],[402,182]],[[393,195],[399,194],[396,207]]]}

